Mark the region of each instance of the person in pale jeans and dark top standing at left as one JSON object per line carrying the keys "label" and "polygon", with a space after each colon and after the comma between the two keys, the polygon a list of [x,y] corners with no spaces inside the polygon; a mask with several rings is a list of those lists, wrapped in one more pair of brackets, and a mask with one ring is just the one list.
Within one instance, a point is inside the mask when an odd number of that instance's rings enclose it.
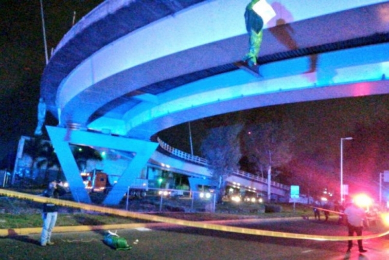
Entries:
{"label": "person in pale jeans and dark top standing at left", "polygon": [[[43,196],[48,198],[58,198],[60,193],[63,191],[59,191],[59,188],[63,187],[62,181],[52,181],[49,183],[48,188],[43,192]],[[62,195],[62,194],[61,194]],[[40,236],[40,245],[53,245],[54,242],[51,241],[52,231],[57,221],[58,208],[57,205],[53,203],[45,203],[43,204],[43,228]]]}

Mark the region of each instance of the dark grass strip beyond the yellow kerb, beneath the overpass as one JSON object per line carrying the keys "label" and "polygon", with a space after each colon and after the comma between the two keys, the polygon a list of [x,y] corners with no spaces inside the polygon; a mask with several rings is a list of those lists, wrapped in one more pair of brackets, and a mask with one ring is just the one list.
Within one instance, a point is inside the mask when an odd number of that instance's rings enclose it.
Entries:
{"label": "dark grass strip beyond the yellow kerb, beneath the overpass", "polygon": [[[131,211],[143,211],[151,209],[155,212],[156,206],[153,201],[138,200],[131,202],[134,208]],[[183,206],[181,200],[165,203],[167,208]],[[274,206],[276,205],[276,206]],[[159,206],[157,207],[159,208]],[[217,221],[217,220],[237,220],[249,218],[287,218],[313,216],[311,207],[301,204],[248,204],[248,203],[223,203],[216,204],[215,213],[208,212],[169,212],[163,208],[163,212],[154,214],[164,217],[177,218],[189,221]],[[265,209],[277,208],[280,212],[269,212]],[[0,229],[7,228],[25,228],[42,226],[42,204],[28,200],[16,198],[0,197]],[[150,212],[150,211],[149,211]],[[266,213],[265,213],[266,212]],[[85,213],[80,209],[60,207],[56,226],[77,226],[77,225],[105,225],[105,224],[124,224],[124,223],[144,223],[140,219],[131,219],[126,217],[114,216],[101,213]]]}

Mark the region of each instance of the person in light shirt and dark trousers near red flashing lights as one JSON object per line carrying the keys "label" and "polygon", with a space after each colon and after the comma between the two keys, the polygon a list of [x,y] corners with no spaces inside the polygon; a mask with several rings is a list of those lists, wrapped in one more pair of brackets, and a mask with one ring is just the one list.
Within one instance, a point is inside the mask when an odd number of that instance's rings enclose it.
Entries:
{"label": "person in light shirt and dark trousers near red flashing lights", "polygon": [[[344,210],[344,214],[347,218],[347,227],[349,229],[349,236],[353,237],[354,232],[357,236],[362,236],[363,220],[366,219],[365,210],[358,207],[353,202],[346,207],[346,209]],[[347,252],[350,252],[352,247],[353,247],[353,241],[349,240],[349,246],[347,248]],[[361,239],[358,239],[358,249],[360,253],[367,252],[367,250],[363,249]]]}

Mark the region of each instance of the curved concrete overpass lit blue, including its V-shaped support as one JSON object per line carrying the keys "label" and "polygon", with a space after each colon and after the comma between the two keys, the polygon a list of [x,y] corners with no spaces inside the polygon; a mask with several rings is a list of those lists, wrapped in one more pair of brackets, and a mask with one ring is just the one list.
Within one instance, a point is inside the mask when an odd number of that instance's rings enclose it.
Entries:
{"label": "curved concrete overpass lit blue, including its V-shaped support", "polygon": [[[69,143],[135,154],[106,197],[118,204],[150,161],[209,176],[204,165],[157,151],[161,130],[233,111],[389,93],[389,1],[267,0],[276,17],[264,27],[259,75],[235,65],[248,52],[248,2],[106,0],[71,28],[45,68],[41,96],[59,122],[47,130],[73,196],[90,202]],[[288,192],[275,183],[271,191]]]}

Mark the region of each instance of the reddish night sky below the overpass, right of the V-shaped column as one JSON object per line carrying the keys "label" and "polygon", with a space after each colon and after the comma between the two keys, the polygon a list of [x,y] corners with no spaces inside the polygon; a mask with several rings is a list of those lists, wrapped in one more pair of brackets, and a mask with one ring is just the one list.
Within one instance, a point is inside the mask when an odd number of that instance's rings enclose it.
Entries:
{"label": "reddish night sky below the overpass, right of the V-shaped column", "polygon": [[[295,175],[291,185],[338,189],[342,137],[354,138],[343,142],[344,184],[350,189],[378,191],[379,173],[389,169],[389,95],[287,104],[195,121],[191,123],[195,154],[208,127],[242,119],[250,124],[272,120],[293,122],[294,159],[287,166]],[[165,130],[160,137],[190,152],[188,124]]]}

